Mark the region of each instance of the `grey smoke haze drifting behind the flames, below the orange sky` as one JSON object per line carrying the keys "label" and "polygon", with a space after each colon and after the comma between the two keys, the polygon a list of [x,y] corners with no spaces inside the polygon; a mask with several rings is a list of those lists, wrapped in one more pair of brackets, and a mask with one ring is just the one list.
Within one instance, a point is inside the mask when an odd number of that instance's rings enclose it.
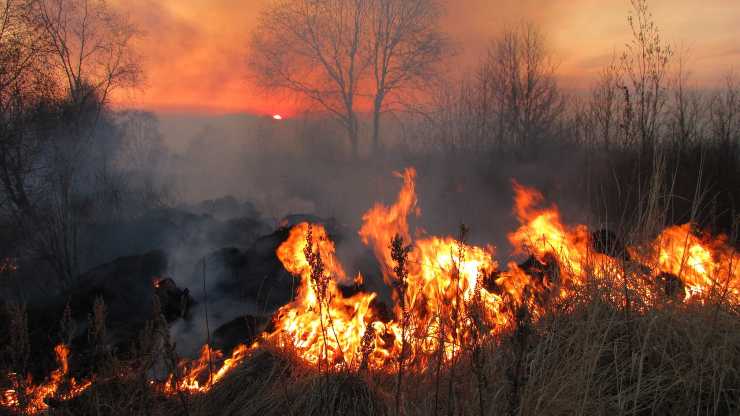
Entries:
{"label": "grey smoke haze drifting behind the flames, below the orange sky", "polygon": [[[245,261],[247,252],[257,250],[258,238],[290,214],[333,219],[332,238],[348,275],[362,272],[366,288],[389,299],[378,264],[357,231],[362,215],[376,202],[395,201],[401,181],[394,171],[411,166],[418,172],[421,215],[410,219],[412,236],[455,236],[464,223],[470,241],[493,244],[500,259],[509,251],[506,233],[515,228],[512,178],[565,205],[566,217],[569,212],[583,217],[579,200],[568,204],[580,183],[577,154],[551,147],[522,161],[434,147],[411,151],[401,139],[409,127],[387,123],[386,137],[395,139],[386,141],[385,156],[370,158],[363,148],[361,160],[353,161],[343,132],[320,117],[276,121],[248,115],[120,114],[104,133],[115,142],[107,152],[111,177],[120,180],[125,192],[111,209],[101,210],[106,215],[85,225],[82,271],[164,250],[167,277],[188,288],[195,300],[189,318],[171,326],[180,353],[189,356],[206,342],[206,327],[213,333],[245,314],[274,310],[274,305],[257,303],[255,293],[239,289],[244,283],[239,279],[246,276],[240,271],[253,265],[230,261]],[[148,192],[152,200],[144,198]],[[96,195],[91,191],[89,198]],[[265,247],[259,250],[274,252],[274,246]],[[279,278],[272,273],[259,278],[271,283]],[[137,312],[143,312],[149,305],[142,301],[139,306]]]}

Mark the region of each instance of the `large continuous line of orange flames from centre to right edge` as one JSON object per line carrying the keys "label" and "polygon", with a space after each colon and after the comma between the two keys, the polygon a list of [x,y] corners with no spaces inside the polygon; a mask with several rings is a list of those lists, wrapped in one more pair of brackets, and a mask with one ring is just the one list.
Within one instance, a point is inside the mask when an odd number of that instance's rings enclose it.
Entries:
{"label": "large continuous line of orange flames from centre to right edge", "polygon": [[[342,295],[337,285],[348,283],[346,273],[320,225],[300,224],[278,248],[285,268],[302,280],[296,300],[280,310],[278,329],[270,337],[294,348],[311,364],[388,368],[401,351],[407,356],[404,360],[419,368],[435,354],[449,361],[459,346],[507,328],[513,318],[509,301],[526,303],[537,318],[544,313],[545,302],[567,298],[589,282],[623,282],[648,300],[659,292],[658,275],[671,273],[684,285],[687,299],[718,287],[740,298],[740,268],[733,267],[737,254],[724,238],[701,241],[690,233],[689,225],[671,227],[647,248],[630,248],[631,260],[617,259],[594,251],[588,227],[565,225],[556,206],[542,207],[540,192],[516,182],[514,214],[520,226],[508,238],[514,255],[528,256],[524,263],[510,261],[500,271],[492,246],[425,236],[418,230],[413,241],[408,217],[420,214],[416,172],[406,169],[396,175],[403,180],[397,201],[390,206],[376,204],[364,214],[359,230],[362,241],[375,253],[384,281],[393,288],[390,321],[383,322],[371,307],[375,294]],[[395,236],[410,244],[407,276],[400,284],[391,250]],[[306,250],[307,246],[311,249]],[[315,252],[323,260],[319,280],[325,287],[311,283],[316,277],[307,257]],[[635,262],[639,267],[631,264]],[[726,278],[719,281],[720,276]],[[317,290],[325,290],[323,298]],[[614,299],[620,296],[613,294]],[[373,335],[372,343],[367,341],[368,333]],[[367,344],[371,344],[369,353]]]}

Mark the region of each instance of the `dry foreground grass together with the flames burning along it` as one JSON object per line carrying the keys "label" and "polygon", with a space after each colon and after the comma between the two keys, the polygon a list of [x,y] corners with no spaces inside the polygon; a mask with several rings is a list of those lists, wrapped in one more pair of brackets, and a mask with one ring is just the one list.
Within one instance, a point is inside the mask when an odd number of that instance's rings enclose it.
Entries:
{"label": "dry foreground grass together with the flames burning along it", "polygon": [[[740,257],[725,237],[686,224],[610,255],[515,183],[520,226],[508,237],[526,260],[500,268],[464,227],[412,237],[415,171],[399,177],[397,202],[377,204],[359,230],[392,289],[390,313],[375,293],[345,296],[340,286],[362,276],[349,277],[321,225],[298,224],[277,256],[301,286],[273,329],[229,358],[208,346],[194,361],[171,356],[169,377],[144,381],[161,402],[144,414],[740,411]],[[71,398],[55,392],[41,403]],[[69,406],[94,397],[82,393]]]}

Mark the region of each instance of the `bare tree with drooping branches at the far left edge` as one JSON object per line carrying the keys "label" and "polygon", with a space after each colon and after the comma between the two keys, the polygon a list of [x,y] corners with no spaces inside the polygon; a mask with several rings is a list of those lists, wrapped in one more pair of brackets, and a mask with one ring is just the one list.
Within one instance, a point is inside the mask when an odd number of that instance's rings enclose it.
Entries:
{"label": "bare tree with drooping branches at the far left edge", "polygon": [[31,248],[69,282],[78,272],[79,225],[88,210],[81,193],[106,172],[90,171],[107,160],[91,157],[105,136],[101,112],[113,90],[140,75],[131,46],[136,32],[102,0],[4,6],[3,21],[13,26],[3,24],[0,49],[17,71],[3,77],[0,91],[0,185]]}

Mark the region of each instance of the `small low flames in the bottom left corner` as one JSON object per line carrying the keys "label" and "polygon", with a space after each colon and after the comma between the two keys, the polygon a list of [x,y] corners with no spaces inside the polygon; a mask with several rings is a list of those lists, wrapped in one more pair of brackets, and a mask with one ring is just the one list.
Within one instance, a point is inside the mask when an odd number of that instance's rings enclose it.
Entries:
{"label": "small low flames in the bottom left corner", "polygon": [[[74,377],[66,379],[69,373],[67,361],[69,348],[64,344],[59,344],[54,348],[54,353],[59,367],[51,372],[46,381],[35,385],[30,375],[23,381],[18,380],[17,377],[11,377],[15,388],[3,392],[0,405],[22,410],[25,414],[38,414],[49,408],[46,404],[47,399],[69,400],[87,390],[92,384],[90,380],[78,382]],[[19,395],[19,391],[23,391],[23,394]]]}

